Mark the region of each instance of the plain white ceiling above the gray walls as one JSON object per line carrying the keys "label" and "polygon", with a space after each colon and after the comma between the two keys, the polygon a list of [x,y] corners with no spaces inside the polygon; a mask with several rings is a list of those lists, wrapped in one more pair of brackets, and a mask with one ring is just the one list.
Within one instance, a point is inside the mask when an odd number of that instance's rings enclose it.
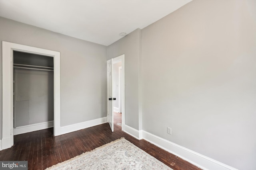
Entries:
{"label": "plain white ceiling above the gray walls", "polygon": [[[0,16],[102,45],[191,0],[0,0]],[[1,23],[0,23],[1,24]]]}

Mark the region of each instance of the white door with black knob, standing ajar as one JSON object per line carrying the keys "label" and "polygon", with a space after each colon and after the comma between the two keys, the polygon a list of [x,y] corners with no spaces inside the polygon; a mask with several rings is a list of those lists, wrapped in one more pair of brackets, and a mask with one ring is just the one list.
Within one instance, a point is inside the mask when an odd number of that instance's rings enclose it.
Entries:
{"label": "white door with black knob, standing ajar", "polygon": [[112,80],[112,77],[113,77],[113,73],[112,73],[112,70],[113,70],[113,59],[111,60],[108,60],[107,61],[107,81],[108,81],[108,123],[110,125],[110,129],[112,132],[114,132],[114,116],[113,116],[113,105],[112,105],[112,100],[114,100],[113,98],[113,87],[112,87],[112,84],[113,84],[113,80]]}

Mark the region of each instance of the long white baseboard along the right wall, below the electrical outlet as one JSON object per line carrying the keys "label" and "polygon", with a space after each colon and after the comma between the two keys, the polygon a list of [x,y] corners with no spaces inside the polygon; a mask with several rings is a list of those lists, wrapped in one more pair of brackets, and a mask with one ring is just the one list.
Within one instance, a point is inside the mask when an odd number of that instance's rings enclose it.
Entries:
{"label": "long white baseboard along the right wall, below the electrical outlet", "polygon": [[202,168],[204,170],[237,170],[231,166],[218,162],[212,158],[194,152],[193,150],[187,149],[166,139],[160,138],[156,135],[142,131],[143,139],[146,141],[172,153],[180,158]]}

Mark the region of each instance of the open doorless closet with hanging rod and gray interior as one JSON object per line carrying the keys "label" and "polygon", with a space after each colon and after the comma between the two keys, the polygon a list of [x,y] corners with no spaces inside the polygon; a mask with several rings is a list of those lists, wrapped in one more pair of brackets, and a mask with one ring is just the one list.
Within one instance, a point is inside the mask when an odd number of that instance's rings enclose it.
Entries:
{"label": "open doorless closet with hanging rod and gray interior", "polygon": [[53,126],[54,58],[13,51],[13,135]]}

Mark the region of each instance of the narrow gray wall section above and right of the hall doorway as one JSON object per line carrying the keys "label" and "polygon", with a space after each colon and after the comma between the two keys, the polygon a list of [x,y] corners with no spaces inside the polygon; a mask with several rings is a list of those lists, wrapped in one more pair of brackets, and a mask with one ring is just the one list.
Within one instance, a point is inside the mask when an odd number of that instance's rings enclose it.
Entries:
{"label": "narrow gray wall section above and right of the hall doorway", "polygon": [[108,59],[124,54],[125,124],[139,128],[139,56],[141,30],[136,29],[108,46]]}

